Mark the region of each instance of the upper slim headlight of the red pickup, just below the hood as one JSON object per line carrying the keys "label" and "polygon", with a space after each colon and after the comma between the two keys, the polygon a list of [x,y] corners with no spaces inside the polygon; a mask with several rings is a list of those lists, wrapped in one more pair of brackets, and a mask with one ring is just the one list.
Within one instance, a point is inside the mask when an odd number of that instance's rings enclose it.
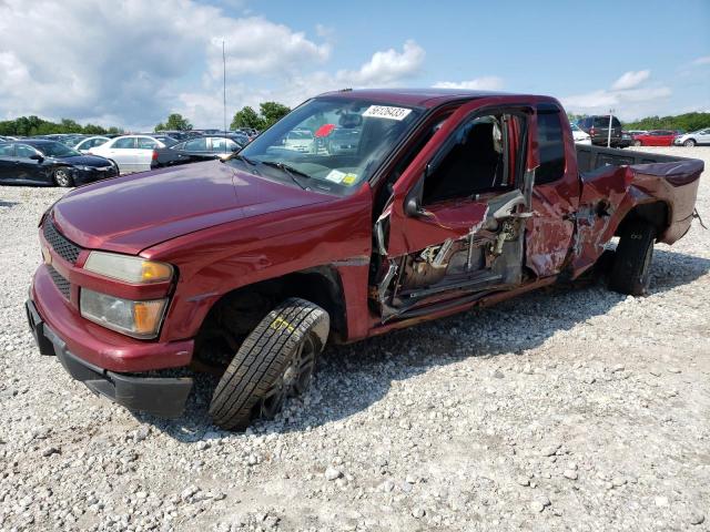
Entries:
{"label": "upper slim headlight of the red pickup, just below the hood", "polygon": [[141,284],[170,280],[173,276],[170,264],[104,252],[91,252],[84,269],[113,279]]}

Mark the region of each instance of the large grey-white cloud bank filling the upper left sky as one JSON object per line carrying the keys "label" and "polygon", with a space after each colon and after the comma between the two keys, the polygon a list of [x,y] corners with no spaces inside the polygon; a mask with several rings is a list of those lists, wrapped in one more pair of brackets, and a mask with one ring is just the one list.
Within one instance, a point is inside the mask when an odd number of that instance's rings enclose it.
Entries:
{"label": "large grey-white cloud bank filling the upper left sky", "polygon": [[286,25],[193,0],[4,0],[0,116],[154,124],[201,74],[203,90],[221,85],[222,39],[231,80],[283,76],[329,57],[329,44]]}

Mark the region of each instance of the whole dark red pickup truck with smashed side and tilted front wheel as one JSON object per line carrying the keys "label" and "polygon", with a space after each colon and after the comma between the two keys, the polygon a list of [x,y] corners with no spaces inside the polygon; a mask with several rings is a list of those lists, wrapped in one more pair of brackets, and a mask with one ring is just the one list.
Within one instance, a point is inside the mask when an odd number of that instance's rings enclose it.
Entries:
{"label": "whole dark red pickup truck with smashed side and tilted front wheel", "polygon": [[131,410],[178,416],[187,369],[219,372],[210,413],[244,428],[304,391],[326,341],[574,279],[615,236],[610,287],[642,294],[702,170],[575,146],[552,98],[327,93],[226,161],[60,200],[28,319],[40,352]]}

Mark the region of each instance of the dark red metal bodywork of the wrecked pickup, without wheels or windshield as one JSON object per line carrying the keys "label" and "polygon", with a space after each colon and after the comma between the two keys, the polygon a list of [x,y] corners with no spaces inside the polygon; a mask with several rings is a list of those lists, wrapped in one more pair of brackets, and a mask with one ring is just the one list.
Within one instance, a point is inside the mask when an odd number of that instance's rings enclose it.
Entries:
{"label": "dark red metal bodywork of the wrecked pickup, without wheels or windshield", "polygon": [[[632,152],[585,146],[579,168],[581,147],[551,98],[436,91],[353,91],[347,98],[357,94],[425,112],[416,131],[351,194],[304,191],[213,162],[82,187],[60,201],[47,219],[82,250],[70,264],[40,231],[52,267],[71,285],[69,296],[59,296],[49,266],[40,266],[31,298],[42,319],[73,354],[101,368],[186,366],[214,305],[273,279],[327,276],[332,311],[341,315],[332,318],[341,324],[337,338],[353,341],[577,277],[629,215],[657,221],[662,211],[658,239],[669,244],[690,226],[702,162],[646,154],[650,164],[642,164]],[[560,139],[538,133],[549,115],[560,121]],[[434,132],[425,132],[433,123]],[[493,186],[436,196],[427,177],[447,164],[442,154],[458,146],[452,139],[462,131],[469,137],[493,132],[499,157],[490,166]],[[541,182],[540,161],[550,150],[561,154],[559,175]],[[630,161],[597,168],[604,154]],[[102,278],[83,269],[92,248],[165,262],[179,275],[144,286]],[[169,297],[159,337],[135,340],[81,318],[84,286],[132,299]],[[160,356],[151,356],[154,349]]]}

